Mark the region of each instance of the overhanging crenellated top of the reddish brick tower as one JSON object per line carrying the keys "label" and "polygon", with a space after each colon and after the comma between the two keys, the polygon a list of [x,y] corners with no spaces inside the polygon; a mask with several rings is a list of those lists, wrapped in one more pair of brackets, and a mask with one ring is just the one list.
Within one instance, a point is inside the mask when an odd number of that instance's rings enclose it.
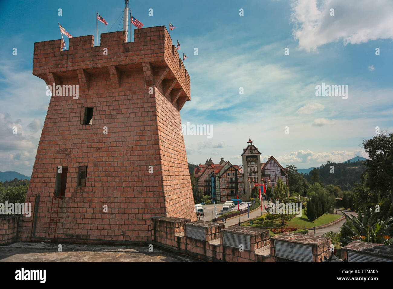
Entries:
{"label": "overhanging crenellated top of the reddish brick tower", "polygon": [[163,93],[177,108],[190,100],[190,76],[165,26],[134,29],[134,42],[126,42],[125,31],[70,38],[69,49],[62,50],[62,39],[35,42],[33,74],[48,85],[62,84],[77,77],[79,86],[89,90],[92,74],[107,72],[114,87],[121,87],[121,74],[143,69],[148,87],[162,84]]}

